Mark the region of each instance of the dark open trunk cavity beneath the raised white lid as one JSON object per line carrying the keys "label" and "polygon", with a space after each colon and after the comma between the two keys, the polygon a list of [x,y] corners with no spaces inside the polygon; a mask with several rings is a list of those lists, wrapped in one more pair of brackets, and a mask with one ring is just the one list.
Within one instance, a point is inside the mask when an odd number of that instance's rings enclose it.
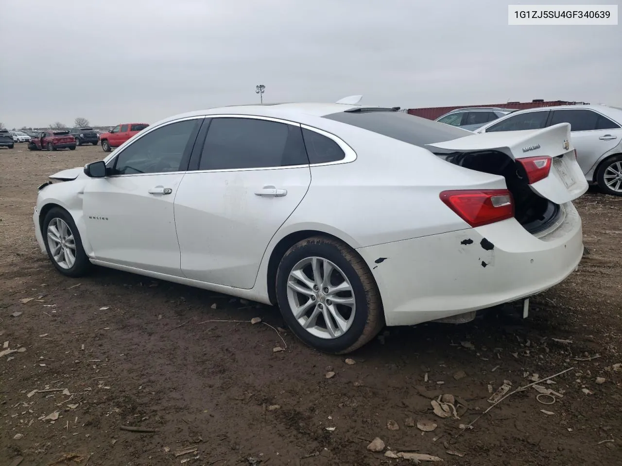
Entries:
{"label": "dark open trunk cavity beneath the raised white lid", "polygon": [[460,167],[503,176],[514,198],[514,217],[531,234],[547,229],[557,220],[559,205],[534,193],[522,165],[503,152],[484,150],[437,155]]}

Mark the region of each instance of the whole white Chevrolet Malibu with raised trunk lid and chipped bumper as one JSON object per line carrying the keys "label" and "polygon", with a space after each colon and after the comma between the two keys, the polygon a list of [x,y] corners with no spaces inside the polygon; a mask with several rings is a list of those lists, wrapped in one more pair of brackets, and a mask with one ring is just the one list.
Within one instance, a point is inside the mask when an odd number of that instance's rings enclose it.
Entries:
{"label": "whole white Chevrolet Malibu with raised trunk lid and chipped bumper", "polygon": [[469,321],[583,254],[568,124],[480,135],[354,103],[230,106],[50,178],[33,220],[58,272],[95,264],[278,304],[332,353],[385,324]]}

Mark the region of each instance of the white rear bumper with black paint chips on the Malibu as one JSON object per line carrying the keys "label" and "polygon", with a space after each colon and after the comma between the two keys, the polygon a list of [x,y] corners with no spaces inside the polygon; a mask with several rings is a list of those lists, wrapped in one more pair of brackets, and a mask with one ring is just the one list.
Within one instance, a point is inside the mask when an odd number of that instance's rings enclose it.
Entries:
{"label": "white rear bumper with black paint chips on the Malibu", "polygon": [[572,203],[554,231],[535,237],[515,219],[357,249],[371,268],[388,325],[414,325],[547,290],[583,255]]}

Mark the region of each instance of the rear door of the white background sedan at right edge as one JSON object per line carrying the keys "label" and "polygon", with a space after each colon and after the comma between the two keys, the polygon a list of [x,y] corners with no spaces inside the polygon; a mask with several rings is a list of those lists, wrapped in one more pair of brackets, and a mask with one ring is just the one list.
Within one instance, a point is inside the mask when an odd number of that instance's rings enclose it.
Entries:
{"label": "rear door of the white background sedan at right edge", "polygon": [[622,137],[620,125],[590,109],[553,110],[548,126],[558,123],[570,123],[572,145],[584,175],[606,152],[620,144]]}

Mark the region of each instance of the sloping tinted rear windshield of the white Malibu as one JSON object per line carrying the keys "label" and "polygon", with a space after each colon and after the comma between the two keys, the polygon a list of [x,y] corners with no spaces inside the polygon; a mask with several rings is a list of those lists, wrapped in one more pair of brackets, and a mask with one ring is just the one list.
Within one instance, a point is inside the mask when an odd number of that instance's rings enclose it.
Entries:
{"label": "sloping tinted rear windshield of the white Malibu", "polygon": [[406,112],[338,112],[323,118],[357,126],[419,147],[473,134],[465,129],[409,115]]}

